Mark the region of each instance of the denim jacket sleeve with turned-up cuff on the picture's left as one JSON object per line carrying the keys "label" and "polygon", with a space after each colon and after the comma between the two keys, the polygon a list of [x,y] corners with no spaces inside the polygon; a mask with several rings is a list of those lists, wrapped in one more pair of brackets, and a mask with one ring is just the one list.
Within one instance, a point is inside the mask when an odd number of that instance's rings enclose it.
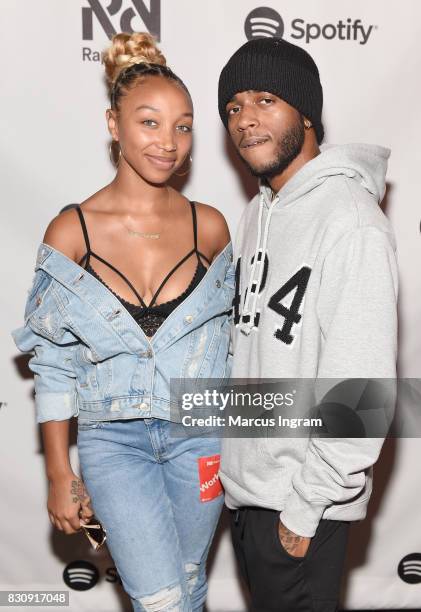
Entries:
{"label": "denim jacket sleeve with turned-up cuff on the picture's left", "polygon": [[79,342],[63,328],[51,282],[44,272],[37,272],[26,302],[25,324],[12,331],[17,348],[32,355],[28,366],[34,373],[37,423],[78,414],[74,352]]}

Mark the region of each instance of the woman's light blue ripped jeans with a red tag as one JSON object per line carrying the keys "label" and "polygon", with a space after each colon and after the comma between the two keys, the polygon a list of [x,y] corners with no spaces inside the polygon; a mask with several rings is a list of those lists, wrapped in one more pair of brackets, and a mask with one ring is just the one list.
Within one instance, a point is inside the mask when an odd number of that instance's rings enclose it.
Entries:
{"label": "woman's light blue ripped jeans with a red tag", "polygon": [[[206,599],[223,495],[213,497],[215,475],[201,494],[198,464],[219,455],[220,441],[175,432],[185,430],[155,418],[78,427],[82,478],[136,612],[196,612]],[[206,494],[208,486],[215,493]],[[213,498],[202,501],[206,495]]]}

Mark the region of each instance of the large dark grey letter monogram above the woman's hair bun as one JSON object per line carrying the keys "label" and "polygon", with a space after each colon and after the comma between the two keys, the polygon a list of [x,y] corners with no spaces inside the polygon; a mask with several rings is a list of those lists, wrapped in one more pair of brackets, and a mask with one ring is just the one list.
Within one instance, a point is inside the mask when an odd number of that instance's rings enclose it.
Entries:
{"label": "large dark grey letter monogram above the woman's hair bun", "polygon": [[[93,40],[94,20],[104,30],[108,38],[117,32],[134,32],[140,25],[133,25],[135,19],[143,22],[143,29],[161,38],[161,0],[149,0],[149,6],[143,0],[85,0],[89,6],[82,7],[82,38]],[[127,6],[129,5],[129,6]]]}

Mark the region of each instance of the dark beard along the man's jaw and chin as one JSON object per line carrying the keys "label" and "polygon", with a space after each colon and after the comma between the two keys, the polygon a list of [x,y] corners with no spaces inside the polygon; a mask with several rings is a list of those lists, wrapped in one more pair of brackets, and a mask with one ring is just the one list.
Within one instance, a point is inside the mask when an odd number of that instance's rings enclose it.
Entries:
{"label": "dark beard along the man's jaw and chin", "polygon": [[290,163],[299,155],[304,144],[304,125],[301,121],[292,126],[278,143],[275,158],[265,165],[257,168],[251,166],[244,158],[241,158],[253,176],[271,179],[288,168]]}

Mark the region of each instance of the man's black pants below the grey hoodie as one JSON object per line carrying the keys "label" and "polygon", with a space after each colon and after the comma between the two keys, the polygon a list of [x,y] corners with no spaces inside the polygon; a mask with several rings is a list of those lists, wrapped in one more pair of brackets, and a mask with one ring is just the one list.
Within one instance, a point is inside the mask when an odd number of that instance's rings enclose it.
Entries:
{"label": "man's black pants below the grey hoodie", "polygon": [[231,510],[231,533],[254,612],[335,612],[349,523],[321,520],[303,558],[278,536],[279,511]]}

